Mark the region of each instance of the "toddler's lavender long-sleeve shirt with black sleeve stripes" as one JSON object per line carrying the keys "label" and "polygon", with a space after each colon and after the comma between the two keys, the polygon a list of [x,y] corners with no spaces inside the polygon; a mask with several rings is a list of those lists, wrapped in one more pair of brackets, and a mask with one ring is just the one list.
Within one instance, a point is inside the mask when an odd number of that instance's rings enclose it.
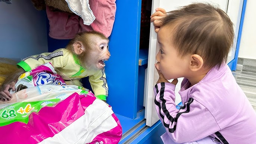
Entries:
{"label": "toddler's lavender long-sleeve shirt with black sleeve stripes", "polygon": [[185,143],[210,135],[223,144],[256,144],[256,112],[227,65],[213,67],[199,83],[189,84],[186,78],[181,83],[180,110],[175,85],[155,85],[154,103],[167,138]]}

